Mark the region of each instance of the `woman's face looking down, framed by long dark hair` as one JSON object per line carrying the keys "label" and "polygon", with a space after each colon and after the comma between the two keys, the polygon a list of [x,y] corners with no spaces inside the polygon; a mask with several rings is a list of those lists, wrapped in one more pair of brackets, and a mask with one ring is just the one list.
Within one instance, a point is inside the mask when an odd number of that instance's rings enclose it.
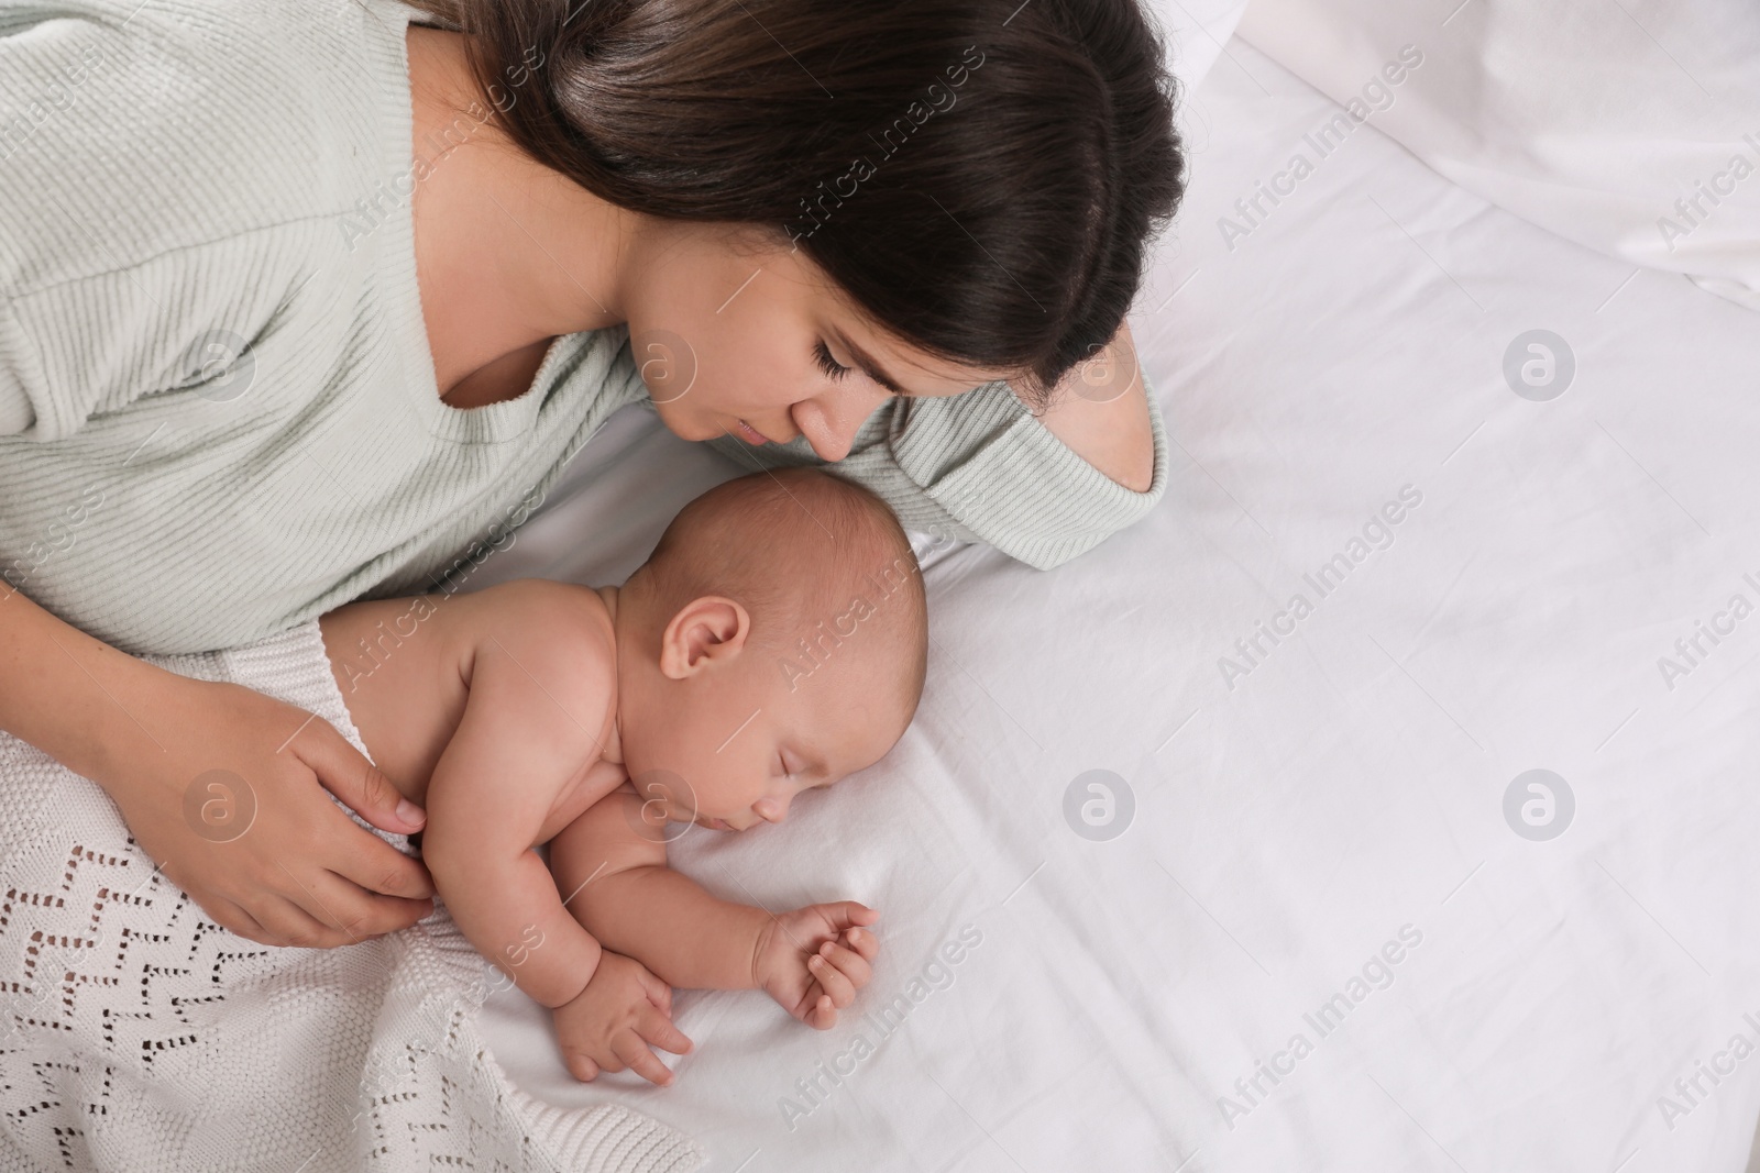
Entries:
{"label": "woman's face looking down, framed by long dark hair", "polygon": [[820,459],[840,461],[894,394],[956,396],[1007,376],[933,359],[869,325],[780,237],[672,222],[635,248],[639,278],[623,297],[630,350],[660,419],[685,440],[804,434]]}

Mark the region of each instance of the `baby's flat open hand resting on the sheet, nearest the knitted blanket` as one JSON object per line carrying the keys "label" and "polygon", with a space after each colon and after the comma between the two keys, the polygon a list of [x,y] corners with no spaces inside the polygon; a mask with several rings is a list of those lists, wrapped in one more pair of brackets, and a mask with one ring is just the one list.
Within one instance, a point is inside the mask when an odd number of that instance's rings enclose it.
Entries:
{"label": "baby's flat open hand resting on the sheet, nearest the knitted blanket", "polygon": [[598,955],[593,980],[551,1011],[570,1075],[591,1082],[600,1071],[632,1067],[649,1083],[667,1087],[672,1073],[649,1046],[683,1055],[690,1039],[672,1025],[672,988],[621,953]]}

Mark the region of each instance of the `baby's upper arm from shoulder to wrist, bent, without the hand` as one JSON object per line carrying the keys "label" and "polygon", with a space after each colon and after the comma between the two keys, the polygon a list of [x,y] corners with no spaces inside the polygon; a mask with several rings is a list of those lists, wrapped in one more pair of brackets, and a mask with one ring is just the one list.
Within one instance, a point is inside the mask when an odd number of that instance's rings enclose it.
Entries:
{"label": "baby's upper arm from shoulder to wrist, bent, without the hand", "polygon": [[532,844],[558,795],[600,765],[612,682],[588,640],[535,619],[477,645],[465,716],[428,783],[422,858],[477,951],[554,1008],[586,988],[600,948]]}

